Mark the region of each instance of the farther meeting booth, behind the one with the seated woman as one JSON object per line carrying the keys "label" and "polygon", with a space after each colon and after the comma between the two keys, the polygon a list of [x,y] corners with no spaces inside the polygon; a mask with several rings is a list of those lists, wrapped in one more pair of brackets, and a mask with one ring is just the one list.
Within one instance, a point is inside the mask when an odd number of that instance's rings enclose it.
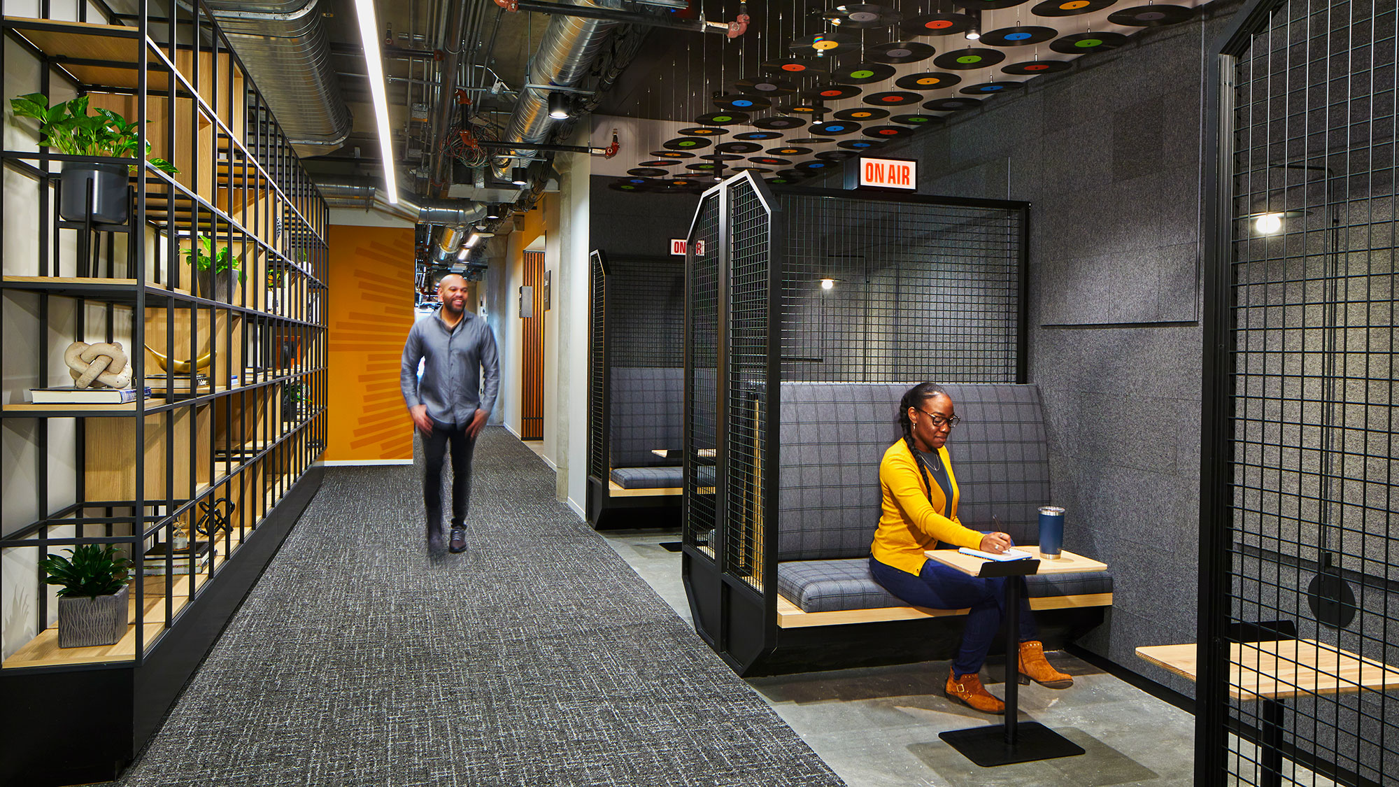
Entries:
{"label": "farther meeting booth, behind the one with the seated woman", "polygon": [[684,258],[590,262],[588,521],[677,527]]}

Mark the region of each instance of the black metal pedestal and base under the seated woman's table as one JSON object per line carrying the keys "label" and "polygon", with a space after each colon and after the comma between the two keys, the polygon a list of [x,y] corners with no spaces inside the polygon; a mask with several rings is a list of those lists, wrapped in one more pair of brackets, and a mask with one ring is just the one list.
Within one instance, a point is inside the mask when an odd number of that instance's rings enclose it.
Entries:
{"label": "black metal pedestal and base under the seated woman's table", "polygon": [[1038,560],[988,562],[978,577],[1006,577],[1006,721],[939,732],[949,746],[982,767],[1081,755],[1083,748],[1038,721],[1020,724],[1020,577]]}

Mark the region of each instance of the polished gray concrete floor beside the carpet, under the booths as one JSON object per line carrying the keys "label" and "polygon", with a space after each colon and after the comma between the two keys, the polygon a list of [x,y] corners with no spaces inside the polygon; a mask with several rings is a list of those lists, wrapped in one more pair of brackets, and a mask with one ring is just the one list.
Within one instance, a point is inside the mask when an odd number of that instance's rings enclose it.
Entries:
{"label": "polished gray concrete floor beside the carpet, under the booths", "polygon": [[[676,532],[604,532],[614,550],[690,620],[680,555],[660,546]],[[937,738],[993,723],[942,693],[947,662],[807,672],[748,681],[851,787],[1191,784],[1195,717],[1077,658],[1051,654],[1074,676],[1056,692],[1021,689],[1021,720],[1034,720],[1084,748],[1077,758],[982,769]],[[982,679],[1002,693],[999,669]],[[995,682],[995,683],[992,683]]]}

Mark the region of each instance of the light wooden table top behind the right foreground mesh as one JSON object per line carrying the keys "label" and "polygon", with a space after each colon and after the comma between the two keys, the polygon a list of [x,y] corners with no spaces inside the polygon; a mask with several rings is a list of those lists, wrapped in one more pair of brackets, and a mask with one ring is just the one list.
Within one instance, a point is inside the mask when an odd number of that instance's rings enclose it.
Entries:
{"label": "light wooden table top behind the right foreground mesh", "polygon": [[[1196,647],[1143,646],[1137,655],[1195,681]],[[1399,689],[1399,669],[1316,640],[1233,643],[1230,696],[1240,700]]]}

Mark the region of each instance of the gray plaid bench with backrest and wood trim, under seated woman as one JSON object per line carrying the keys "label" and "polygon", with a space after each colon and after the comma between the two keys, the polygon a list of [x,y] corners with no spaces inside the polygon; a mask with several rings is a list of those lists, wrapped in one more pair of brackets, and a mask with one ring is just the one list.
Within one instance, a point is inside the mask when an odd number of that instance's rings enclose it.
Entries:
{"label": "gray plaid bench with backrest and wood trim, under seated woman", "polygon": [[[778,625],[823,626],[963,615],[909,606],[869,573],[880,517],[879,464],[900,438],[898,402],[909,384],[783,382],[778,475]],[[947,440],[972,529],[1038,542],[1038,508],[1051,503],[1049,448],[1034,385],[949,384],[961,424]],[[1073,520],[1066,542],[1073,546]],[[1027,577],[1032,609],[1109,606],[1108,571]]]}

